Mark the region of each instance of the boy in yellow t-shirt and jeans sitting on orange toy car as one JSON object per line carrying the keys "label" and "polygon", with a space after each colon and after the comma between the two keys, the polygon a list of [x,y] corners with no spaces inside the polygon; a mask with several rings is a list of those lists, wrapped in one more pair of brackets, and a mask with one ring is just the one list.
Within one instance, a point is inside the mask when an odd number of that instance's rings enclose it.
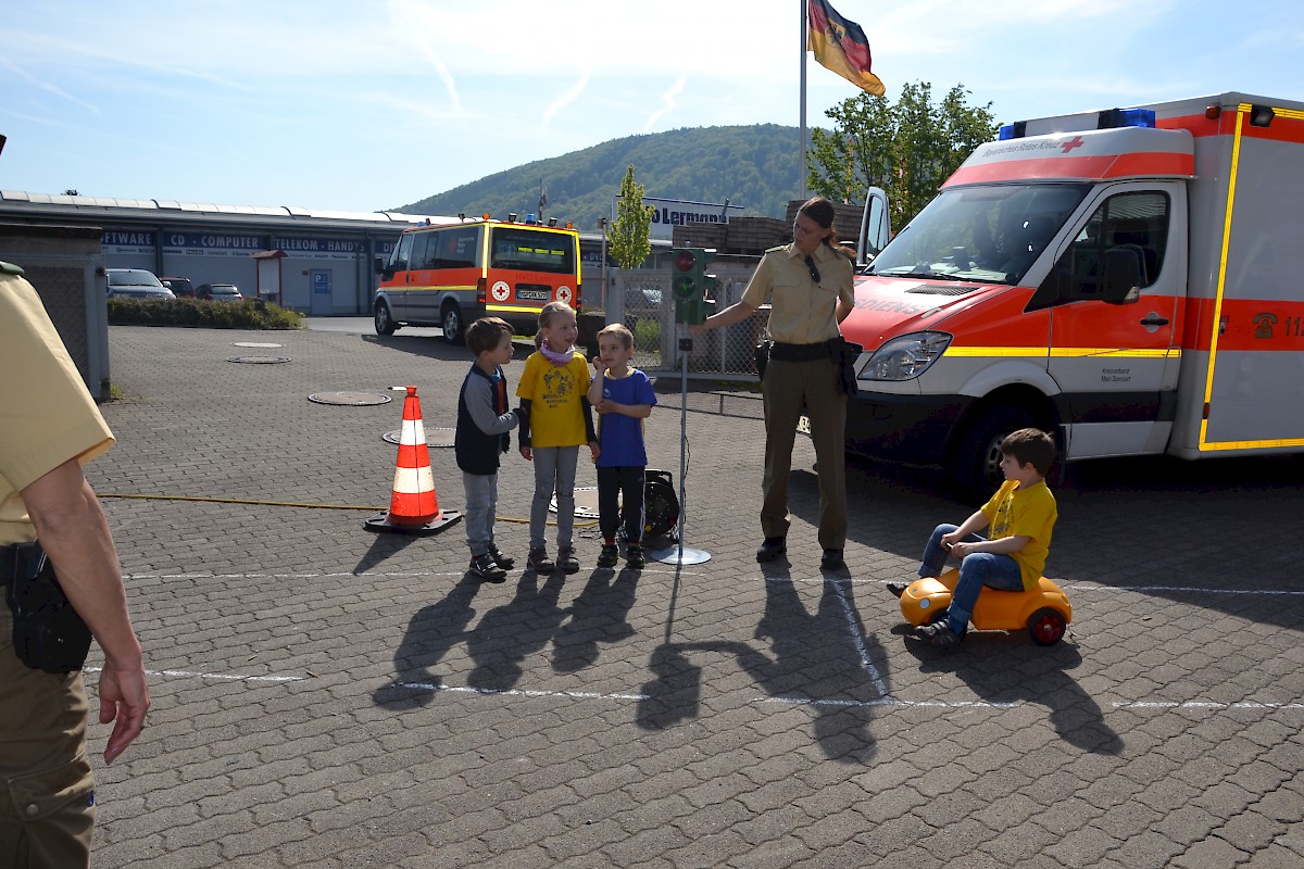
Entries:
{"label": "boy in yellow t-shirt and jeans sitting on orange toy car", "polygon": [[[947,558],[960,559],[960,581],[952,593],[945,621],[919,625],[917,637],[935,646],[958,644],[969,628],[982,586],[1007,591],[1038,588],[1051,546],[1051,530],[1059,511],[1046,486],[1046,473],[1055,459],[1055,440],[1038,429],[1020,429],[1000,444],[1000,469],[1005,482],[961,525],[938,525],[923,548],[921,577],[941,573]],[[991,537],[975,532],[991,525]],[[888,584],[898,598],[906,586]]]}

